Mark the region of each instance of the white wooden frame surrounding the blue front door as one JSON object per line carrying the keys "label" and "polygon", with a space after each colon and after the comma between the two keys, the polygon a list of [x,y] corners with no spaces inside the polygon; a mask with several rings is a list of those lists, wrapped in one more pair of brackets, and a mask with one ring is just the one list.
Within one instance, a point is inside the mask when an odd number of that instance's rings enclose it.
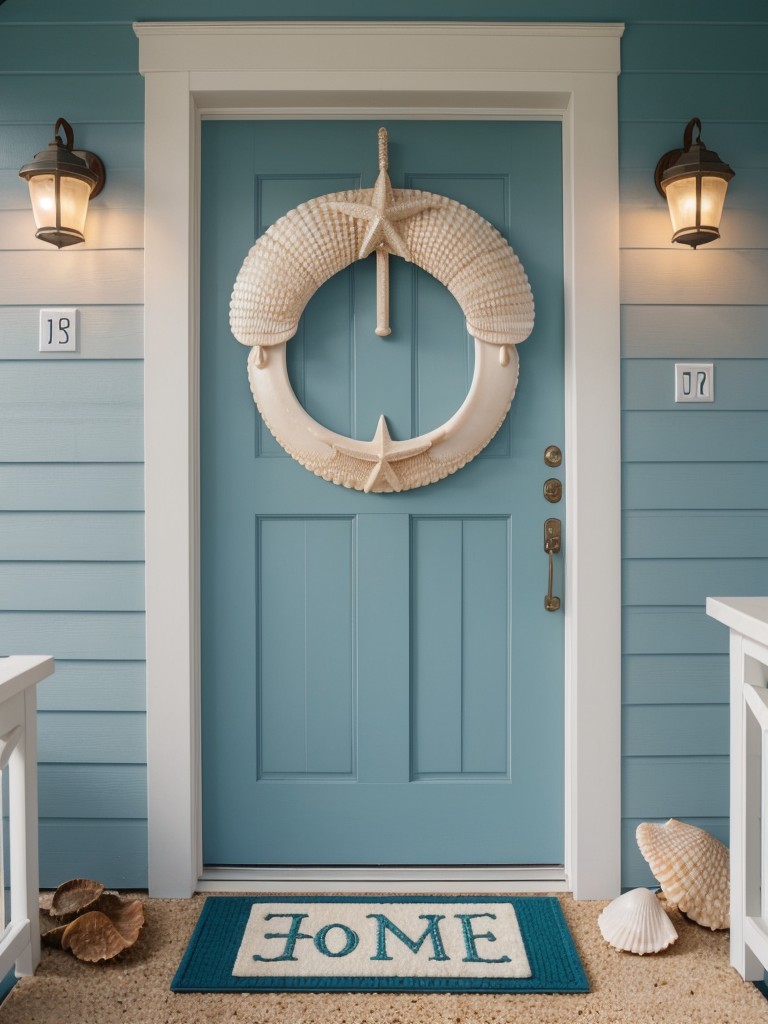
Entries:
{"label": "white wooden frame surrounding the blue front door", "polygon": [[[134,31],[145,85],[151,894],[189,896],[200,888],[203,873],[199,168],[201,120],[217,117],[525,118],[562,123],[568,536],[563,602],[564,867],[566,884],[577,898],[616,895],[621,885],[616,78],[624,27],[204,22],[139,23]],[[359,879],[360,887],[369,888],[366,882]]]}

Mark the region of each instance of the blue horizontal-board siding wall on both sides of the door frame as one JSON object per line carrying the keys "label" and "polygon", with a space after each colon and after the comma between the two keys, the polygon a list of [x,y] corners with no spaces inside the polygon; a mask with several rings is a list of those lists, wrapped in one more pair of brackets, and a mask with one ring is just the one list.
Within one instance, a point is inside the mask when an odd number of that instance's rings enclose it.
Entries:
{"label": "blue horizontal-board siding wall on both sides of the door frame", "polygon": [[[437,8],[439,8],[437,10]],[[638,821],[727,838],[727,638],[707,594],[768,590],[768,23],[764,0],[6,0],[0,6],[0,653],[52,653],[40,692],[43,883],[146,881],[142,615],[140,19],[625,22],[624,884]],[[16,172],[65,116],[109,185],[78,252],[32,239]],[[736,170],[724,239],[673,250],[652,186],[685,123]],[[109,230],[108,230],[109,226]],[[38,356],[37,309],[82,310]],[[676,359],[716,401],[671,400]],[[599,400],[599,395],[595,396]],[[616,685],[620,681],[616,680]]]}

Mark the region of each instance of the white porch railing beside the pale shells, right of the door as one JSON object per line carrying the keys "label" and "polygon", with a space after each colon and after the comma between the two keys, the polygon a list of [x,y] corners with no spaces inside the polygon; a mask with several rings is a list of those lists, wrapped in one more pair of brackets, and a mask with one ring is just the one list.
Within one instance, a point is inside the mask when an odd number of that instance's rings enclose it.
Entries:
{"label": "white porch railing beside the pale shells, right of the door", "polygon": [[768,970],[768,597],[710,597],[730,628],[731,966]]}

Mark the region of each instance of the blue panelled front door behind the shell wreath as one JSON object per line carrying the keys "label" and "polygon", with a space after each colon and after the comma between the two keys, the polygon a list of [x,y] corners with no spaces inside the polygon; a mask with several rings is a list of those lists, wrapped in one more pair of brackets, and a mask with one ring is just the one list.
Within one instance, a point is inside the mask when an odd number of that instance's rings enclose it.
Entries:
{"label": "blue panelled front door behind the shell wreath", "polygon": [[[560,126],[394,122],[394,187],[449,196],[508,239],[536,327],[487,449],[439,483],[311,475],[251,397],[228,303],[255,238],[300,203],[371,187],[374,122],[206,122],[201,269],[202,728],[207,864],[563,859],[562,611],[545,609],[547,445],[563,446]],[[459,408],[473,344],[436,281],[375,257],[311,299],[294,390],[332,430],[393,438]],[[561,586],[559,566],[555,582]]]}

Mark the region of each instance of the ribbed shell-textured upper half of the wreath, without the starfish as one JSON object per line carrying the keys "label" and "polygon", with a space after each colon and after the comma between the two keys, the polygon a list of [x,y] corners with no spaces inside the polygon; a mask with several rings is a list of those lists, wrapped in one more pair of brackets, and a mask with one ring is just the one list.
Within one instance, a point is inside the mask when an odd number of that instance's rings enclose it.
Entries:
{"label": "ribbed shell-textured upper half of the wreath, without the starfish", "polygon": [[[374,189],[332,193],[281,217],[252,247],[229,306],[232,334],[244,345],[269,346],[296,334],[304,306],[339,270],[354,263],[366,224],[339,211],[371,205]],[[522,264],[507,241],[468,207],[414,188],[393,188],[397,204],[429,204],[398,222],[411,261],[454,295],[469,333],[510,345],[534,327],[534,299]]]}

